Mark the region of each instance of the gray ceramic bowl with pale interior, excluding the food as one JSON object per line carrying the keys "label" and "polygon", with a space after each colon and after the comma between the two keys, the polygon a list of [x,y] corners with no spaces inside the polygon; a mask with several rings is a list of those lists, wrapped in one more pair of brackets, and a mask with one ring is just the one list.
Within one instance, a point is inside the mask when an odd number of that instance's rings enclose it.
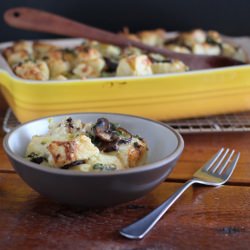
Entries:
{"label": "gray ceramic bowl with pale interior, excluding the food", "polygon": [[64,204],[83,207],[111,206],[139,198],[166,179],[182,153],[182,137],[172,128],[152,120],[121,114],[79,113],[65,116],[95,122],[106,117],[143,137],[149,146],[147,164],[109,173],[83,173],[53,169],[23,158],[33,135],[48,130],[48,118],[20,125],[4,138],[4,149],[17,173],[40,194]]}

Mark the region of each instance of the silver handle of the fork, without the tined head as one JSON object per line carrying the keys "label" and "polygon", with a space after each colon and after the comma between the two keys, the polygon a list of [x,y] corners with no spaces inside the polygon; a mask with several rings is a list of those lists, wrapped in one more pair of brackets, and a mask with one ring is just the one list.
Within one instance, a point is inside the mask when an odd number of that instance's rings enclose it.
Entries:
{"label": "silver handle of the fork, without the tined head", "polygon": [[171,195],[165,202],[155,208],[152,212],[137,220],[133,224],[122,228],[120,230],[120,234],[129,239],[142,239],[174,204],[174,202],[183,194],[183,192],[195,182],[195,179],[187,181],[173,195]]}

